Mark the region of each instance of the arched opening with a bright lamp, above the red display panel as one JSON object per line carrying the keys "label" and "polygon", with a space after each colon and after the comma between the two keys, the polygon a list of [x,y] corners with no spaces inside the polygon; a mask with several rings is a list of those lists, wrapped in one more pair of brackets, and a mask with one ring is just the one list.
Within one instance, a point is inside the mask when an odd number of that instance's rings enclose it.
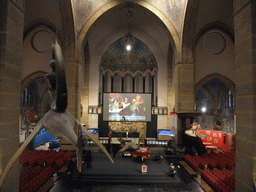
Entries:
{"label": "arched opening with a bright lamp, above the red display panel", "polygon": [[196,93],[196,107],[204,113],[197,120],[205,129],[215,129],[214,122],[220,121],[222,131],[234,132],[235,97],[221,80],[213,79],[200,87]]}

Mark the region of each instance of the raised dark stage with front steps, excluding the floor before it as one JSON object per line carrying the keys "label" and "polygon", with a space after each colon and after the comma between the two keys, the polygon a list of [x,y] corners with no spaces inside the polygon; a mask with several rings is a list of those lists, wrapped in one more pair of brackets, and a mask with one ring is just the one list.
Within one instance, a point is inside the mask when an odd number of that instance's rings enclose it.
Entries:
{"label": "raised dark stage with front steps, excluding the floor before it", "polygon": [[[175,176],[170,176],[169,163],[165,158],[158,163],[152,159],[137,162],[132,157],[118,157],[113,158],[114,164],[100,152],[92,152],[92,158],[92,168],[86,168],[86,163],[84,163],[82,174],[74,180],[125,184],[183,183],[179,178],[180,170]],[[147,165],[147,173],[142,173],[143,164]]]}

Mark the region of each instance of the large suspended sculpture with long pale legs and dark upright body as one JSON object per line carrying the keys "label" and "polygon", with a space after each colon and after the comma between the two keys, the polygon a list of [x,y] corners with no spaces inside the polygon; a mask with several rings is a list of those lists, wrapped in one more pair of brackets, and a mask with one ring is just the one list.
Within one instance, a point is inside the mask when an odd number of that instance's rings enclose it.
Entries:
{"label": "large suspended sculpture with long pale legs and dark upright body", "polygon": [[68,105],[66,76],[61,48],[57,42],[53,44],[53,56],[54,60],[50,62],[52,73],[46,76],[50,84],[50,94],[52,98],[51,109],[38,122],[33,132],[24,141],[7,164],[0,178],[0,188],[13,164],[19,159],[19,156],[26,149],[31,140],[43,128],[57,138],[64,137],[68,139],[76,147],[77,169],[79,172],[81,172],[82,169],[82,132],[93,140],[108,156],[111,162],[114,163],[106,148],[97,139],[95,139],[70,112],[66,110]]}

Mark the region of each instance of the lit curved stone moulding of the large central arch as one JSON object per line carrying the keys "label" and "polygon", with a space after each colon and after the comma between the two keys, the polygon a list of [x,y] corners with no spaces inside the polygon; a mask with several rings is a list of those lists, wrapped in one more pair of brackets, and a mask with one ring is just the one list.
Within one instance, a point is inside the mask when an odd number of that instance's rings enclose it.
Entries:
{"label": "lit curved stone moulding of the large central arch", "polygon": [[[118,0],[114,0],[112,2],[107,3],[106,5],[102,6],[99,10],[97,10],[89,19],[88,21],[84,24],[84,26],[82,27],[80,33],[78,34],[77,37],[77,55],[76,58],[79,60],[80,58],[80,54],[83,53],[83,47],[86,43],[85,39],[86,39],[86,35],[88,30],[90,29],[90,27],[93,25],[93,23],[102,15],[104,14],[106,11],[108,11],[109,9],[122,4],[123,2],[120,2]],[[177,30],[175,29],[174,25],[171,23],[171,21],[161,12],[159,11],[156,7],[154,7],[153,5],[151,5],[150,3],[143,1],[143,0],[138,0],[138,1],[133,1],[133,3],[136,3],[146,9],[148,9],[149,11],[151,11],[153,14],[157,15],[158,18],[160,18],[160,20],[165,24],[166,28],[169,30],[173,41],[171,41],[172,47],[174,48],[175,52],[177,53],[177,55],[180,55],[181,53],[181,41],[180,41],[180,37],[178,35]]]}

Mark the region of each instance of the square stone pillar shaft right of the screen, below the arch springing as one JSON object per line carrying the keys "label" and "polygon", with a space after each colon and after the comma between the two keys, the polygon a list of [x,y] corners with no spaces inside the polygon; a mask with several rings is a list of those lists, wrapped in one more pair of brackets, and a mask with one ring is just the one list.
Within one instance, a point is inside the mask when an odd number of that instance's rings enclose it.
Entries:
{"label": "square stone pillar shaft right of the screen, below the arch springing", "polygon": [[179,62],[175,66],[175,111],[193,111],[194,96],[194,64]]}

